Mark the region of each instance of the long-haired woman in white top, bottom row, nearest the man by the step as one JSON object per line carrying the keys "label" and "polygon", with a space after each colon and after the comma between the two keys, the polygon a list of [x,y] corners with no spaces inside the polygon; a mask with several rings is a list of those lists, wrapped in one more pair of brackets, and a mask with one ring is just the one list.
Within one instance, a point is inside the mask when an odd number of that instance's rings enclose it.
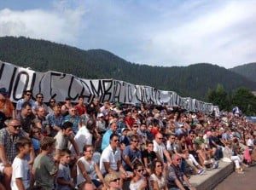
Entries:
{"label": "long-haired woman in white top, bottom row, nearest the man by the step", "polygon": [[149,177],[149,189],[168,190],[166,178],[163,175],[164,164],[160,160],[154,161],[152,172]]}

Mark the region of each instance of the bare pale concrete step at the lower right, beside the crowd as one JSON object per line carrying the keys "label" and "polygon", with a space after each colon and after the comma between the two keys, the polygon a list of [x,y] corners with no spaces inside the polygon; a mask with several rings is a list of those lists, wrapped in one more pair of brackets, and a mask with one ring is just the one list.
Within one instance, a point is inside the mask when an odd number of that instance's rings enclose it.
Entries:
{"label": "bare pale concrete step at the lower right, beside the crowd", "polygon": [[211,190],[223,181],[234,171],[233,163],[219,161],[218,169],[207,170],[206,173],[199,176],[191,176],[189,181],[196,190]]}

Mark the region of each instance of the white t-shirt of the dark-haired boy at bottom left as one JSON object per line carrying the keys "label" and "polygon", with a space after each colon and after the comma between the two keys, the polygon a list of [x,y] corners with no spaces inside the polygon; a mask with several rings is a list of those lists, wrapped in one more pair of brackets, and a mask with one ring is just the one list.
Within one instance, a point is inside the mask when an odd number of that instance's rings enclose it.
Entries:
{"label": "white t-shirt of the dark-haired boy at bottom left", "polygon": [[23,185],[27,189],[30,186],[30,170],[27,160],[15,157],[12,168],[13,175],[11,180],[11,189],[19,190],[16,185],[16,178],[22,178]]}

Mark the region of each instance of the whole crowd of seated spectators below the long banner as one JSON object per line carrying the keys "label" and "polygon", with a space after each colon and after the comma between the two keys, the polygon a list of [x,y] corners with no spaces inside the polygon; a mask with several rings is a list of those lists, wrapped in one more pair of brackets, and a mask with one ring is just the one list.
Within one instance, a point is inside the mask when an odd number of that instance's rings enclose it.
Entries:
{"label": "whole crowd of seated spectators below the long banner", "polygon": [[0,89],[0,189],[195,189],[191,175],[255,159],[255,124],[179,107],[100,102],[47,104],[24,91],[14,105]]}

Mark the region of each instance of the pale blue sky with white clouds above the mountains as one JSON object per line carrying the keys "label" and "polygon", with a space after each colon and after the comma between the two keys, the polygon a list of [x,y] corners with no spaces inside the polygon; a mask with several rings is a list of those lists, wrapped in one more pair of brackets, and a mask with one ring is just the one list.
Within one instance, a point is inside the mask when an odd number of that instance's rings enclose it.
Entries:
{"label": "pale blue sky with white clouds above the mountains", "polygon": [[105,49],[151,66],[256,61],[256,0],[1,0],[0,37]]}

